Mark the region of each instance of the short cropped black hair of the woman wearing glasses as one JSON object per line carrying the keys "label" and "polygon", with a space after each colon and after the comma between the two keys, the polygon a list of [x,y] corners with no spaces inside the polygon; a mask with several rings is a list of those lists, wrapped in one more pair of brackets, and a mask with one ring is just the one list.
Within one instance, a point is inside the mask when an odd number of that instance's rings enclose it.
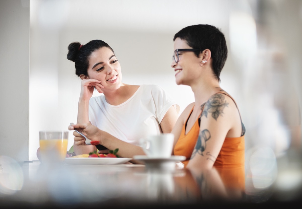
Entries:
{"label": "short cropped black hair of the woman wearing glasses", "polygon": [[[227,47],[224,34],[215,26],[208,24],[191,25],[178,31],[173,38],[185,40],[193,49],[211,51],[212,68],[218,81],[220,81],[220,72],[226,62]],[[199,51],[195,52],[199,56]]]}

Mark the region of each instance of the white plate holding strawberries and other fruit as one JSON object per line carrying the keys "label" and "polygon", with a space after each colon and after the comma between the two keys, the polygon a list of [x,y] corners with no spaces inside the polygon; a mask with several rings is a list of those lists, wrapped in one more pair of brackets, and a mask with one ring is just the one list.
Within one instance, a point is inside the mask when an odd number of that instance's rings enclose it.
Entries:
{"label": "white plate holding strawberries and other fruit", "polygon": [[132,158],[123,158],[123,157],[67,157],[65,158],[65,163],[67,164],[76,164],[76,165],[85,165],[85,164],[123,164],[128,162]]}

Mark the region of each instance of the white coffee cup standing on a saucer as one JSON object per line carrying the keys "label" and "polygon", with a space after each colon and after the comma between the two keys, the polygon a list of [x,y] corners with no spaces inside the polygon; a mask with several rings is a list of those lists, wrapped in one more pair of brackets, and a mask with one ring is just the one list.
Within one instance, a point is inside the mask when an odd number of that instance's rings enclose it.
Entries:
{"label": "white coffee cup standing on a saucer", "polygon": [[161,133],[140,138],[140,146],[149,158],[170,158],[174,142],[173,133]]}

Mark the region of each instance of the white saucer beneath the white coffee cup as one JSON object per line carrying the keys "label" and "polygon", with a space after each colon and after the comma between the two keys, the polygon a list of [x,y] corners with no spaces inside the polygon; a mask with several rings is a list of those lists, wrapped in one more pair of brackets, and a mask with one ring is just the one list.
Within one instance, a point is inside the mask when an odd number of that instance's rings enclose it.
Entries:
{"label": "white saucer beneath the white coffee cup", "polygon": [[169,158],[150,158],[146,155],[135,155],[133,156],[133,159],[144,163],[147,168],[174,170],[176,162],[183,161],[186,157],[173,155]]}

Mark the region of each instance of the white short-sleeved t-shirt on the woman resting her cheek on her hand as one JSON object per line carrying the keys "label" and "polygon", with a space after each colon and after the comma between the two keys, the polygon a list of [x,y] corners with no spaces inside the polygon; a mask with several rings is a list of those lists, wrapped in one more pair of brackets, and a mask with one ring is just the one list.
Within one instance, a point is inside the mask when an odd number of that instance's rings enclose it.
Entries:
{"label": "white short-sleeved t-shirt on the woman resting her cheek on her hand", "polygon": [[157,85],[140,85],[127,101],[110,105],[105,96],[90,98],[89,120],[101,130],[125,142],[139,145],[147,135],[162,133],[160,123],[171,106],[179,106]]}

